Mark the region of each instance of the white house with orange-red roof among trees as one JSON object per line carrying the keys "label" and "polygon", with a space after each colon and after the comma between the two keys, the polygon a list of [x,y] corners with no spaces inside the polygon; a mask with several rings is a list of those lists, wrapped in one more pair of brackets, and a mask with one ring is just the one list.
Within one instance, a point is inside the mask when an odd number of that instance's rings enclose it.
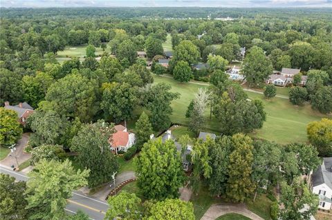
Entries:
{"label": "white house with orange-red roof among trees", "polygon": [[116,132],[109,138],[112,152],[114,154],[118,154],[119,150],[127,152],[136,143],[135,134],[128,132],[127,128],[122,125],[116,125],[114,129]]}

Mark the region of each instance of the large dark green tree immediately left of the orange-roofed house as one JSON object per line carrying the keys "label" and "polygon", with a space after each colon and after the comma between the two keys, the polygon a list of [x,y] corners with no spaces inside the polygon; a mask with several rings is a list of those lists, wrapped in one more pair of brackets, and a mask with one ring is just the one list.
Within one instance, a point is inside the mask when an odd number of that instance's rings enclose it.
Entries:
{"label": "large dark green tree immediately left of the orange-roofed house", "polygon": [[118,171],[116,157],[109,150],[112,127],[103,121],[86,124],[73,138],[71,151],[78,152],[80,167],[91,170],[87,178],[91,188],[111,181],[112,174]]}

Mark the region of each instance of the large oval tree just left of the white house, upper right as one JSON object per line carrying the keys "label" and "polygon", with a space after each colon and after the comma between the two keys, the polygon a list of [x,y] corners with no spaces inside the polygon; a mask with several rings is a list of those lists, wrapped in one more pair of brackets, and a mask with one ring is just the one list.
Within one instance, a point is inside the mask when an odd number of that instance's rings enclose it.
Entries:
{"label": "large oval tree just left of the white house, upper right", "polygon": [[253,46],[243,60],[241,72],[246,76],[250,86],[258,86],[264,83],[273,72],[271,61],[265,56],[264,51]]}

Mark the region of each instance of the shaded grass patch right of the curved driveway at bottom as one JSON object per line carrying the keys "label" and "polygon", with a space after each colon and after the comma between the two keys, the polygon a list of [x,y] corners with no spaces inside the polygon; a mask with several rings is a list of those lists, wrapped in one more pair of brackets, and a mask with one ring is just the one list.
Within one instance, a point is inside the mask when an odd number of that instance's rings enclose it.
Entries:
{"label": "shaded grass patch right of the curved driveway at bottom", "polygon": [[266,197],[266,194],[259,194],[255,199],[255,203],[252,199],[247,199],[246,205],[248,210],[258,214],[265,220],[270,220],[270,206],[272,201]]}

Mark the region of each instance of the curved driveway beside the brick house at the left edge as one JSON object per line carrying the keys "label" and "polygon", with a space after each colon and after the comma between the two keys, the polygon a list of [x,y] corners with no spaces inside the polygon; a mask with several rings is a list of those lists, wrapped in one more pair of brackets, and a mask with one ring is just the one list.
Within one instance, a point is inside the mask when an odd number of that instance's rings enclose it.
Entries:
{"label": "curved driveway beside the brick house at the left edge", "polygon": [[26,154],[25,152],[23,152],[24,147],[26,146],[26,144],[29,141],[29,137],[30,137],[30,133],[22,134],[21,139],[19,139],[19,141],[17,141],[17,143],[15,145],[16,151],[10,152],[10,154],[8,154],[8,156],[5,159],[0,161],[1,165],[8,166],[8,167],[14,165],[15,167],[17,167],[15,155],[17,157],[17,161],[19,162],[19,164],[30,159],[31,154]]}

